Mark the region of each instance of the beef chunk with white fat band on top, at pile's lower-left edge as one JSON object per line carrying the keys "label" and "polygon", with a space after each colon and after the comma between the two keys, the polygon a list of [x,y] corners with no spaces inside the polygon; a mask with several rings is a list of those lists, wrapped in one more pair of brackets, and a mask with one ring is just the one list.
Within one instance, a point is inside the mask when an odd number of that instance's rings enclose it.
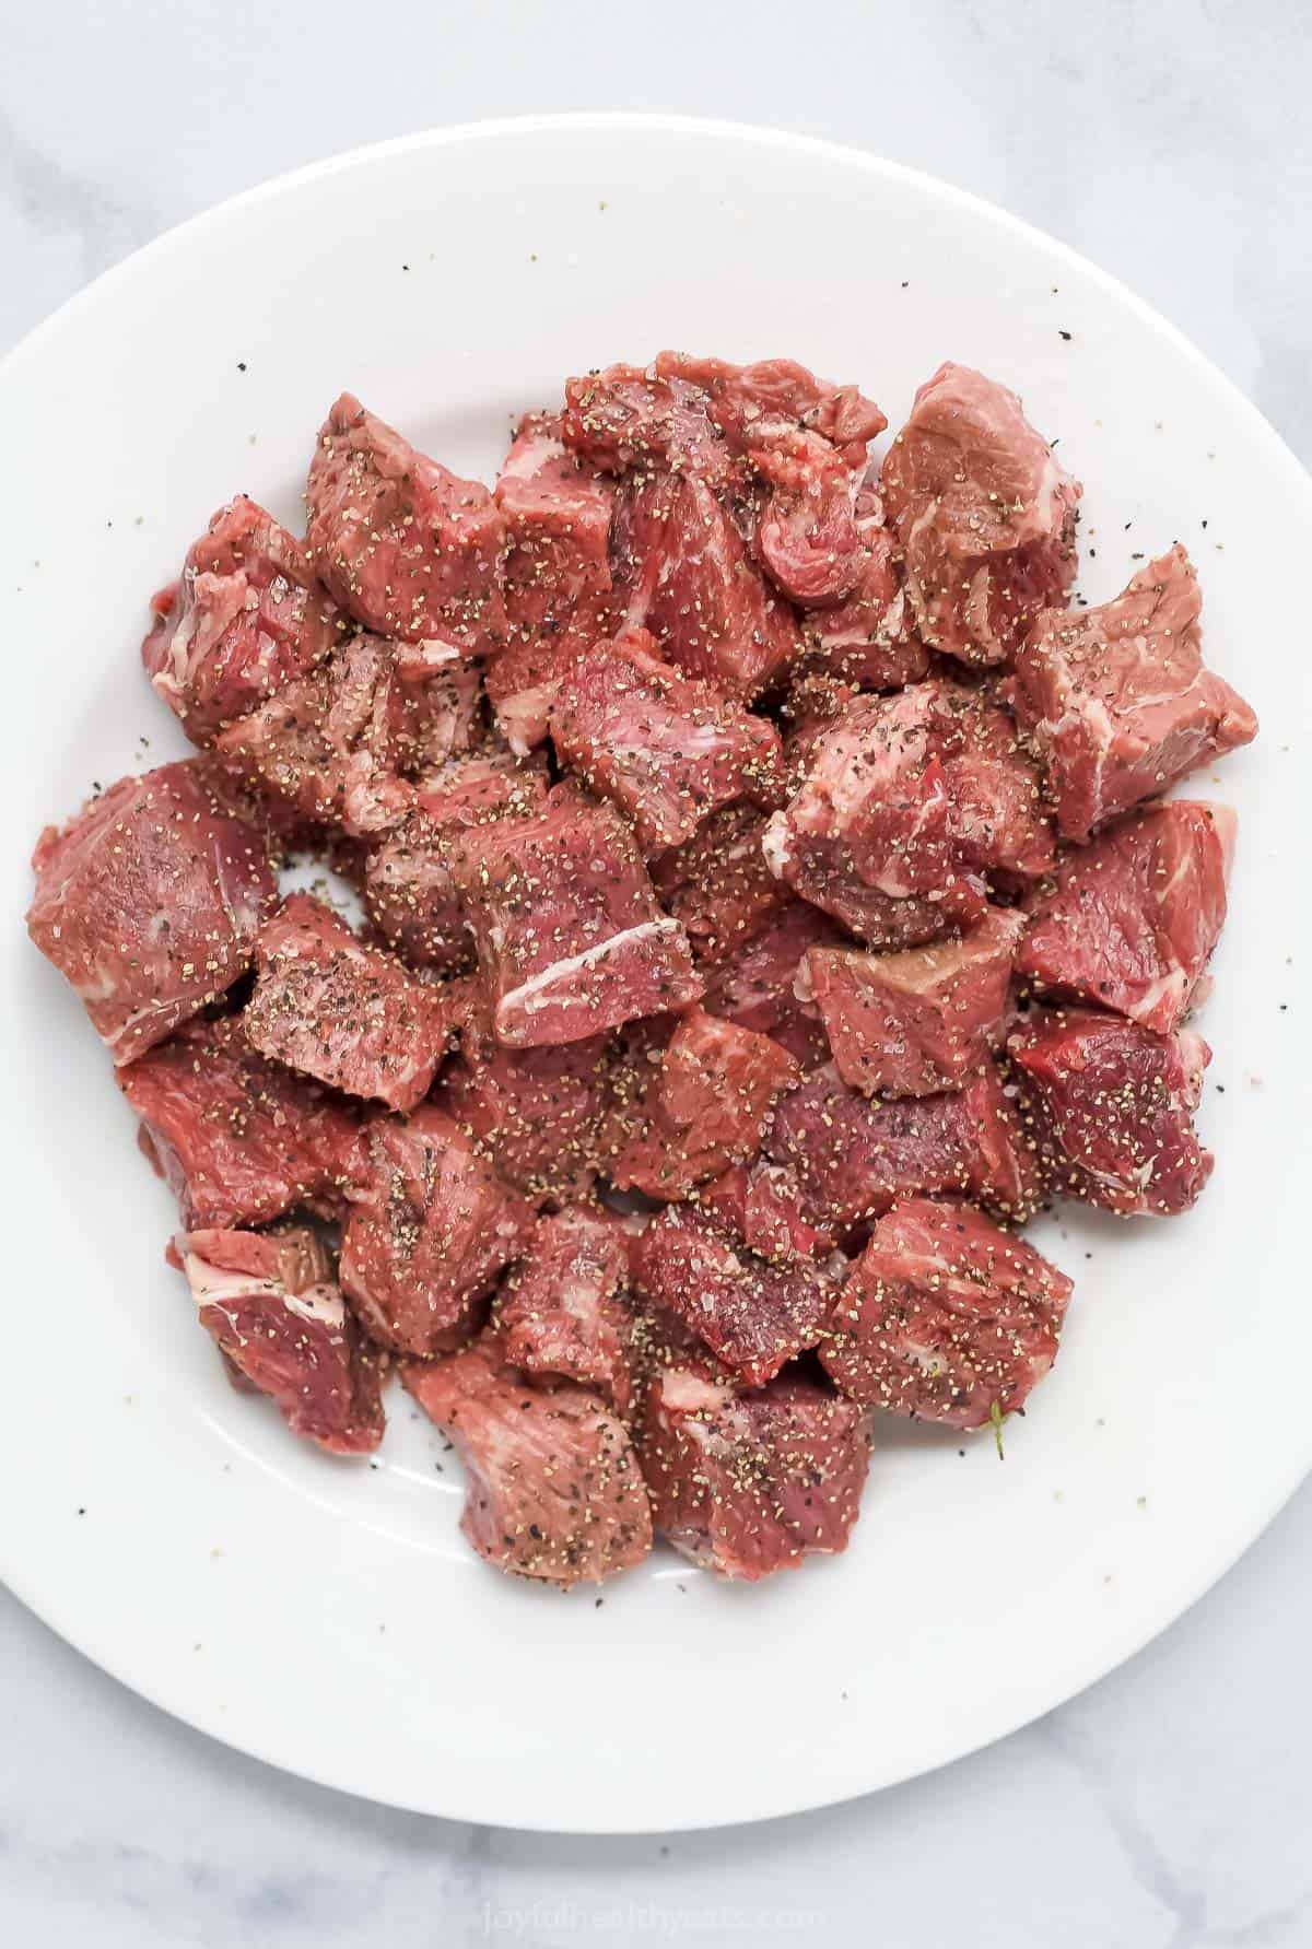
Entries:
{"label": "beef chunk with white fat band on top, at pile's lower-left edge", "polygon": [[378,1446],[380,1360],[314,1232],[183,1232],[175,1251],[201,1325],[292,1434],[343,1456]]}

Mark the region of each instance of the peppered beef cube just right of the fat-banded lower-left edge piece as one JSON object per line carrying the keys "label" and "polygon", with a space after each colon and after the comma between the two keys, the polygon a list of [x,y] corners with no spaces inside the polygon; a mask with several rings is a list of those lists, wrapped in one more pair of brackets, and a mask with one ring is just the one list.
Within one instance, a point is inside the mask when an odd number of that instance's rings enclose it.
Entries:
{"label": "peppered beef cube just right of the fat-banded lower-left edge piece", "polygon": [[444,1353],[524,1249],[532,1212],[431,1103],[405,1123],[378,1117],[361,1150],[341,1288],[370,1339]]}

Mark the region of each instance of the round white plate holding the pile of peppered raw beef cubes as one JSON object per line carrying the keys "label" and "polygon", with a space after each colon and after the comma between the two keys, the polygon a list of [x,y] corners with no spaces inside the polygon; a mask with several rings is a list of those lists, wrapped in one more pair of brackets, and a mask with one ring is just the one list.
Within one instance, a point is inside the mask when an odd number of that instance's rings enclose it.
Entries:
{"label": "round white plate holding the pile of peppered raw beef cubes", "polygon": [[[860,380],[895,427],[944,357],[1020,388],[1086,483],[1084,592],[1185,540],[1211,661],[1265,735],[1195,782],[1242,811],[1197,1212],[1041,1228],[1076,1296],[1002,1466],[992,1440],[887,1425],[846,1557],[743,1590],[661,1551],[597,1608],[466,1551],[458,1471],[407,1401],[378,1464],[351,1466],[230,1392],[162,1263],[170,1199],[19,914],[39,824],[183,748],[136,661],[150,591],[240,487],[298,520],[343,386],[491,476],[519,409],[663,345],[788,353]],[[1059,244],[871,156],[567,117],[365,150],[183,226],[6,361],[0,425],[0,1555],[33,1610],[314,1779],[468,1820],[669,1828],[813,1807],[996,1739],[1254,1540],[1312,1464],[1312,491],[1172,327]]]}

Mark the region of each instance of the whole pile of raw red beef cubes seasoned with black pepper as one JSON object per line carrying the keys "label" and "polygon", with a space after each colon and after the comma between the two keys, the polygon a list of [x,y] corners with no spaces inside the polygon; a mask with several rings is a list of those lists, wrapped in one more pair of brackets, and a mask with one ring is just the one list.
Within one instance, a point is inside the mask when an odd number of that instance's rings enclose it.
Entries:
{"label": "whole pile of raw red beef cubes seasoned with black pepper", "polygon": [[487,489],[343,396],[304,538],[238,497],[154,598],[197,756],[37,844],[234,1384],[361,1456],[398,1374],[507,1571],[842,1549],[881,1413],[1053,1364],[1031,1214],[1211,1171],[1234,817],[1162,793],[1255,719],[1193,567],[1072,606],[1080,487],[979,372],[883,429],[663,353]]}

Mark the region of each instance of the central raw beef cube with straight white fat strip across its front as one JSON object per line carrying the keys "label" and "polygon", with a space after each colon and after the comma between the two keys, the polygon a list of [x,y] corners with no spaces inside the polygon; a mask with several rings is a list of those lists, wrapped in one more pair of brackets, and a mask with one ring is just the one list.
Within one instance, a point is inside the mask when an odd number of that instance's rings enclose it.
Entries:
{"label": "central raw beef cube with straight white fat strip across its front", "polygon": [[497,1041],[577,1043],[702,994],[610,805],[558,785],[540,813],[456,834],[450,865]]}

